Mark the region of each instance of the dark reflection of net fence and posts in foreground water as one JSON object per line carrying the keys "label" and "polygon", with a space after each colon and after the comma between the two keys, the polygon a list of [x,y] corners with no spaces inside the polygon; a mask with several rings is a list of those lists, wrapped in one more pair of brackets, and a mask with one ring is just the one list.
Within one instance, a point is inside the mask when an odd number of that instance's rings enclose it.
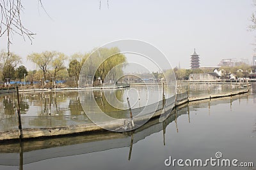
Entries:
{"label": "dark reflection of net fence and posts in foreground water", "polygon": [[[4,143],[0,145],[0,165],[20,166],[54,157],[67,157],[84,153],[99,152],[113,148],[129,147],[128,160],[131,160],[132,145],[156,132],[165,133],[166,126],[177,117],[188,113],[188,106],[182,106],[172,111],[172,115],[159,123],[157,118],[131,132],[102,132],[97,134],[82,134],[77,136],[36,139],[20,143]],[[164,138],[163,138],[164,141]],[[163,143],[165,145],[165,141]],[[19,154],[19,159],[17,155]],[[16,160],[15,160],[16,158]]]}

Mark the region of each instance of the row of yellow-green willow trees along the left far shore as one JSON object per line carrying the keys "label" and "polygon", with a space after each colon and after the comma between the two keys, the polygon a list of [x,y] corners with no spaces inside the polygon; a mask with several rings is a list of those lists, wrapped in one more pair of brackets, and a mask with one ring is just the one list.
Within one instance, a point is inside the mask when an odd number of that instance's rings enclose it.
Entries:
{"label": "row of yellow-green willow trees along the left far shore", "polygon": [[[2,85],[10,82],[27,87],[77,87],[79,74],[83,67],[88,85],[98,85],[106,76],[111,80],[122,74],[122,68],[115,66],[126,61],[124,54],[114,48],[99,48],[86,53],[74,53],[69,57],[61,52],[45,51],[31,53],[27,59],[33,62],[38,69],[29,70],[22,65],[21,57],[15,53],[1,51],[0,53],[0,82]],[[95,73],[92,73],[94,70]],[[94,83],[93,83],[94,82]]]}

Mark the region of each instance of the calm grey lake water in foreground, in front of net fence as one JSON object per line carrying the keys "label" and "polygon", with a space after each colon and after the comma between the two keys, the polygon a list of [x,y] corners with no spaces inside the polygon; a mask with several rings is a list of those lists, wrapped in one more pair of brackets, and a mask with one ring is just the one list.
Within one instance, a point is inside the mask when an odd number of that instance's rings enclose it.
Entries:
{"label": "calm grey lake water in foreground, in front of net fence", "polygon": [[[135,88],[136,89],[136,88]],[[144,91],[143,91],[144,90]],[[138,89],[137,89],[138,91]],[[141,103],[148,98],[157,101],[158,91],[141,88]],[[154,94],[156,92],[156,94]],[[100,96],[95,91],[94,96]],[[112,91],[120,101],[126,99],[127,89]],[[136,98],[135,92],[130,96]],[[1,96],[1,118],[15,117],[13,94]],[[156,96],[154,96],[156,95]],[[147,98],[148,96],[148,98]],[[92,92],[88,91],[88,99]],[[142,99],[143,98],[143,99]],[[102,103],[104,97],[97,97]],[[132,100],[132,99],[131,99]],[[51,106],[50,106],[51,103]],[[103,101],[104,103],[104,101]],[[104,104],[103,104],[104,105]],[[221,152],[224,159],[253,162],[256,168],[256,83],[250,92],[240,96],[211,99],[185,104],[173,111],[163,123],[151,120],[135,132],[103,132],[81,134],[56,139],[38,139],[19,143],[0,144],[0,169],[181,169],[164,166],[164,160],[210,159]],[[9,107],[9,109],[7,109]],[[77,92],[27,93],[22,97],[23,117],[66,117],[84,115]],[[110,110],[108,106],[104,109]],[[50,111],[51,110],[51,111]],[[114,115],[115,116],[115,115]],[[38,125],[40,120],[31,122]],[[34,123],[34,124],[33,124]],[[67,124],[67,122],[65,122]],[[22,146],[22,147],[20,147]],[[20,152],[22,148],[22,152]],[[20,155],[21,153],[21,155]],[[23,160],[20,162],[20,158]],[[4,163],[5,162],[5,163]],[[9,165],[6,165],[8,162]],[[12,165],[11,165],[12,164]],[[188,167],[198,169],[198,167]],[[201,169],[234,169],[234,167],[202,167]]]}

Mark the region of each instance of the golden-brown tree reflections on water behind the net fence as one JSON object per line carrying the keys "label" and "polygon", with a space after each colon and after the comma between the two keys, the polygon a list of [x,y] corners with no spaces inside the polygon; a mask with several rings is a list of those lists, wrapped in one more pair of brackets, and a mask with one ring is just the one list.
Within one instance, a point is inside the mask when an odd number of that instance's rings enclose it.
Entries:
{"label": "golden-brown tree reflections on water behind the net fence", "polygon": [[[131,89],[136,90],[131,90]],[[84,90],[79,96],[77,91],[61,92],[20,92],[20,111],[22,117],[30,116],[64,116],[64,115],[83,115],[84,110],[81,106],[81,97],[88,103],[85,110],[93,110],[93,101],[96,101],[100,110],[106,113],[120,111],[118,108],[127,106],[126,97],[130,97],[132,108],[146,106],[148,94],[152,103],[157,102],[160,97],[159,91],[154,85],[150,87],[139,86],[131,89],[116,90]],[[157,97],[156,97],[157,96]],[[15,117],[17,113],[17,96],[13,94],[0,95],[0,119]],[[118,104],[122,104],[119,105]],[[95,106],[94,106],[95,107]],[[113,113],[114,118],[126,117]]]}

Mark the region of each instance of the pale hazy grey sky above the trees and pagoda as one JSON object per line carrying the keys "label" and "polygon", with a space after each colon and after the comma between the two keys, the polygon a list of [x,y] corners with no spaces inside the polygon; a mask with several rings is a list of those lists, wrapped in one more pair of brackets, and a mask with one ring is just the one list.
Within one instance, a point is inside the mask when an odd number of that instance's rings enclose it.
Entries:
{"label": "pale hazy grey sky above the trees and pagoda", "polygon": [[[223,58],[248,58],[252,62],[255,32],[248,31],[252,0],[22,0],[24,25],[36,33],[29,40],[13,36],[12,52],[23,64],[31,52],[57,50],[67,55],[88,52],[117,39],[140,39],[159,48],[173,67],[189,68],[194,48],[201,66],[216,66]],[[6,49],[6,38],[0,49]]]}

